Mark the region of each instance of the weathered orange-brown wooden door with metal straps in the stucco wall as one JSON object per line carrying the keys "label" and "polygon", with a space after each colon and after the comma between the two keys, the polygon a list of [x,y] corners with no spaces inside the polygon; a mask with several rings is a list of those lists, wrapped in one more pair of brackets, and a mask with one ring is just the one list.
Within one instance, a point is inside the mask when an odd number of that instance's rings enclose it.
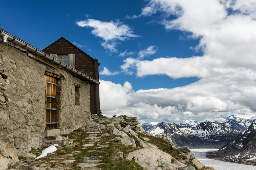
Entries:
{"label": "weathered orange-brown wooden door with metal straps in the stucco wall", "polygon": [[57,128],[56,79],[44,75],[45,80],[45,129]]}

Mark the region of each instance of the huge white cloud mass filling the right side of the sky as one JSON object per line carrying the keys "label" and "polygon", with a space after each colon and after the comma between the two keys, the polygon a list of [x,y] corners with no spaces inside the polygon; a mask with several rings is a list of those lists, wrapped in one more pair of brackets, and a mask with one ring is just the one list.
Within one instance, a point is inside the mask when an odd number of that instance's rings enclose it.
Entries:
{"label": "huge white cloud mass filling the right side of the sky", "polygon": [[127,113],[140,119],[172,121],[206,115],[220,121],[231,113],[247,118],[255,114],[255,2],[150,0],[140,15],[162,13],[165,17],[158,22],[166,30],[189,32],[190,38],[199,38],[195,49],[202,50],[203,55],[159,56],[154,60],[144,60],[145,55],[137,59],[129,57],[121,66],[122,71],[136,73],[138,77],[198,77],[198,81],[173,89],[134,92],[131,88],[123,92],[125,105],[102,110],[109,115]]}

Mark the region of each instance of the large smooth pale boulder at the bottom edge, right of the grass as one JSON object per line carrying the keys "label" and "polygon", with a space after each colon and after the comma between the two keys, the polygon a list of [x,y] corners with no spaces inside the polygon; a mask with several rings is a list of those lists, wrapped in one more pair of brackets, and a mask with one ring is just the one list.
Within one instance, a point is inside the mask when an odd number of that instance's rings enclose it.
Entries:
{"label": "large smooth pale boulder at the bottom edge, right of the grass", "polygon": [[[161,169],[178,169],[186,166],[180,163],[171,155],[163,152],[160,149],[139,149],[130,152],[126,157],[129,161],[133,160],[146,170],[160,170]],[[173,162],[173,163],[172,163]]]}

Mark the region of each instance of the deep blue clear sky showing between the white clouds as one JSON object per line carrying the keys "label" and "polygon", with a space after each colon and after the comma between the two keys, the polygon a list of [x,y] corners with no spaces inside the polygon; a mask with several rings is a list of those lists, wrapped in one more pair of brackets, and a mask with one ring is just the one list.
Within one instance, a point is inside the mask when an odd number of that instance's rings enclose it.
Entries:
{"label": "deep blue clear sky showing between the white clouds", "polygon": [[[118,57],[120,52],[133,51],[137,57],[140,50],[153,45],[158,48],[156,54],[147,57],[152,60],[161,57],[190,57],[200,55],[200,52],[190,50],[198,44],[198,39],[187,38],[181,31],[166,31],[162,25],[150,23],[154,19],[141,18],[139,20],[125,19],[127,15],[140,13],[145,1],[8,1],[5,2],[3,29],[20,37],[39,49],[44,49],[60,37],[70,42],[82,45],[80,49],[93,58],[97,58],[99,71],[103,66],[111,71],[120,71],[124,57]],[[21,13],[22,9],[22,13]],[[86,17],[86,15],[89,15]],[[117,53],[109,53],[101,43],[102,39],[91,34],[91,28],[78,27],[75,21],[94,19],[100,21],[124,22],[129,25],[134,34],[141,37],[131,38],[121,42]],[[40,39],[40,41],[38,41]],[[111,55],[110,55],[111,54]],[[168,76],[148,76],[137,78],[136,75],[119,74],[115,76],[101,75],[100,79],[123,84],[129,81],[134,90],[152,88],[173,88],[184,86],[197,80],[197,78],[172,79]],[[154,81],[152,81],[154,79]],[[163,81],[164,83],[159,83]]]}

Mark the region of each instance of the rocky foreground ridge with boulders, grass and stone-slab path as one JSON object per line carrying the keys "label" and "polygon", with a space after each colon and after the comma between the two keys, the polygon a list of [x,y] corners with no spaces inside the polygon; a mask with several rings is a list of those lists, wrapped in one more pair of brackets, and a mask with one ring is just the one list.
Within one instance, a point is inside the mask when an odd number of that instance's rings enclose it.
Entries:
{"label": "rocky foreground ridge with boulders, grass and stone-slab path", "polygon": [[136,117],[99,118],[92,127],[81,127],[68,134],[69,139],[65,137],[71,144],[58,146],[56,152],[37,160],[42,149],[18,157],[7,144],[0,144],[0,170],[208,168],[195,159],[188,147],[176,148],[169,137],[156,138],[147,133]]}

